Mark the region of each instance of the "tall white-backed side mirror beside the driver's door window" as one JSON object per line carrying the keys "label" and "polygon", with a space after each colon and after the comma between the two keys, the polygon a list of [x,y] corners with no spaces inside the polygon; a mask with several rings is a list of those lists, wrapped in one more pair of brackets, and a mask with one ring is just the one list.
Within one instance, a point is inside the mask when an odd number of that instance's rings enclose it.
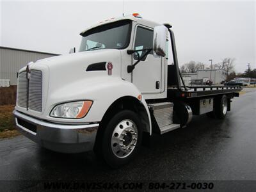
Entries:
{"label": "tall white-backed side mirror beside the driver's door window", "polygon": [[154,28],[154,38],[153,38],[153,53],[154,56],[166,55],[166,27],[156,26]]}

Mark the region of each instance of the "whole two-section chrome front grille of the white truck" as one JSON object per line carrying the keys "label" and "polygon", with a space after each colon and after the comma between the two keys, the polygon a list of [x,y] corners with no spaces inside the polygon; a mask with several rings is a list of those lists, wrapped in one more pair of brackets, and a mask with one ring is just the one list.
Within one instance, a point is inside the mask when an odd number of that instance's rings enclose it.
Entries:
{"label": "whole two-section chrome front grille of the white truck", "polygon": [[42,71],[31,70],[29,79],[26,72],[21,72],[18,79],[17,103],[22,108],[42,111]]}

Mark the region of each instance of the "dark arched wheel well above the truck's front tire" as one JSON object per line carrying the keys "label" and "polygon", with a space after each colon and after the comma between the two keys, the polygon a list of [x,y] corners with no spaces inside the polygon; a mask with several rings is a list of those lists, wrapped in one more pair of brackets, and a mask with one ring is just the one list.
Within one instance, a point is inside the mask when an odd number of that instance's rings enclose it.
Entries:
{"label": "dark arched wheel well above the truck's front tire", "polygon": [[136,97],[131,96],[120,97],[119,99],[115,100],[115,102],[113,102],[111,106],[109,106],[108,110],[104,114],[100,122],[99,129],[97,131],[94,148],[100,148],[100,141],[102,141],[104,127],[106,126],[106,124],[108,124],[111,117],[119,111],[122,111],[123,109],[129,109],[137,113],[141,119],[142,131],[150,132],[150,124],[147,111],[145,109],[145,106],[140,102],[140,100],[138,100]]}

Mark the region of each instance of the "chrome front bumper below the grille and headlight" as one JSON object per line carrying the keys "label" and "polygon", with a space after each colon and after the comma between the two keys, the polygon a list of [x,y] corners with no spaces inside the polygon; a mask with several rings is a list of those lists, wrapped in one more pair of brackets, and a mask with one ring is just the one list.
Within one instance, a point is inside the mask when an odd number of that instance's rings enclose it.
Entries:
{"label": "chrome front bumper below the grille and headlight", "polygon": [[14,110],[17,129],[40,146],[56,152],[92,150],[99,124],[63,125],[39,120]]}

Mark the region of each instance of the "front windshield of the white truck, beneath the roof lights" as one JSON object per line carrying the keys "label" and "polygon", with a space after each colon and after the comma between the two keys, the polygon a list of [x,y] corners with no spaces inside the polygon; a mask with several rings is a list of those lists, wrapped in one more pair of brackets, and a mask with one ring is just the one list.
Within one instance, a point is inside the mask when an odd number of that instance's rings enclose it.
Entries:
{"label": "front windshield of the white truck, beneath the roof lights", "polygon": [[131,20],[105,24],[80,35],[83,36],[80,52],[96,49],[124,49],[130,42]]}

